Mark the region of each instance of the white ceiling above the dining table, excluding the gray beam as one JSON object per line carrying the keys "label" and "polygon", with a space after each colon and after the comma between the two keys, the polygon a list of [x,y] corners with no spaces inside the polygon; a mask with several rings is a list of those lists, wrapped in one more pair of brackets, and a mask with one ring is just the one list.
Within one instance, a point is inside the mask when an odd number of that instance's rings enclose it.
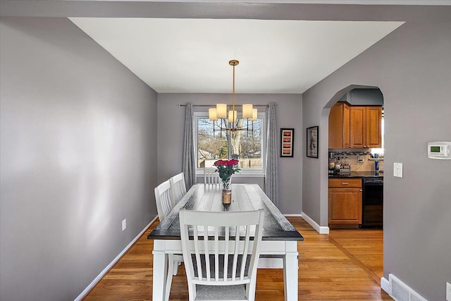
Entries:
{"label": "white ceiling above the dining table, excluding the gray beam", "polygon": [[156,92],[302,93],[402,22],[70,18]]}

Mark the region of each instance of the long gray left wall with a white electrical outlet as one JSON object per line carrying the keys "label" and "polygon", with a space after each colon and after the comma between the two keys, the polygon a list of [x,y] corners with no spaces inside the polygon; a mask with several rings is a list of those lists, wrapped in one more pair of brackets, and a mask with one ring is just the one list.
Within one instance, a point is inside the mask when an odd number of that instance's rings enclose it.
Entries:
{"label": "long gray left wall with a white electrical outlet", "polygon": [[156,92],[66,18],[2,17],[0,64],[0,299],[73,300],[156,216]]}

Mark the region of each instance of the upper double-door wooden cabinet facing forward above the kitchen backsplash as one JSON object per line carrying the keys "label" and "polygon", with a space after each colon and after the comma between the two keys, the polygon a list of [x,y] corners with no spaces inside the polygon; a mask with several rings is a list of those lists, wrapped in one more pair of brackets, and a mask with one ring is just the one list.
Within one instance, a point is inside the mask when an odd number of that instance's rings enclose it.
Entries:
{"label": "upper double-door wooden cabinet facing forward above the kitchen backsplash", "polygon": [[350,107],[350,147],[382,147],[382,107]]}

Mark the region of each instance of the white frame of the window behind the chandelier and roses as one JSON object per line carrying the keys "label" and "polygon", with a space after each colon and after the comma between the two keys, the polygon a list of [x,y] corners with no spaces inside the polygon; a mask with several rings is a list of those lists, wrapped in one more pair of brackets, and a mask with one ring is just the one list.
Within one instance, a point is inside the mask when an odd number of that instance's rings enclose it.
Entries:
{"label": "white frame of the window behind the chandelier and roses", "polygon": [[[261,118],[261,168],[241,168],[240,173],[235,173],[234,177],[264,177],[266,173],[266,113],[259,112],[258,118]],[[196,176],[202,176],[204,174],[203,168],[198,168],[199,164],[197,164],[197,125],[199,118],[209,118],[208,112],[194,112],[194,153],[196,160]],[[240,118],[240,113],[238,113],[238,118]],[[229,142],[230,144],[230,142]]]}

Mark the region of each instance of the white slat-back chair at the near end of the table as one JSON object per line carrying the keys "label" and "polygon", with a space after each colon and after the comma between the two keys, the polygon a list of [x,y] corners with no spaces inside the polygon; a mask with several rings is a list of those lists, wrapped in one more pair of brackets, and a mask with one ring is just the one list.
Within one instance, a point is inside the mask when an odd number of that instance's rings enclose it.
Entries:
{"label": "white slat-back chair at the near end of the table", "polygon": [[254,300],[263,209],[179,216],[189,300]]}

